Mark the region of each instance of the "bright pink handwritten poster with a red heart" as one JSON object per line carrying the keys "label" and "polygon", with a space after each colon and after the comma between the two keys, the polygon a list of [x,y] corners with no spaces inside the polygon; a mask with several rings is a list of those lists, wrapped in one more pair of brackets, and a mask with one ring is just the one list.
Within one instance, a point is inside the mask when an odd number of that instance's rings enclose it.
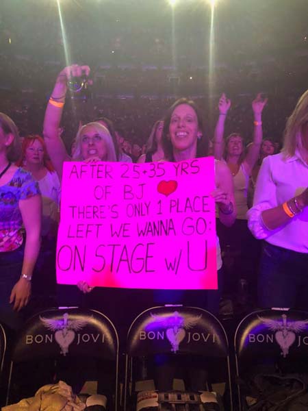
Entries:
{"label": "bright pink handwritten poster with a red heart", "polygon": [[214,158],[66,162],[57,282],[216,289]]}

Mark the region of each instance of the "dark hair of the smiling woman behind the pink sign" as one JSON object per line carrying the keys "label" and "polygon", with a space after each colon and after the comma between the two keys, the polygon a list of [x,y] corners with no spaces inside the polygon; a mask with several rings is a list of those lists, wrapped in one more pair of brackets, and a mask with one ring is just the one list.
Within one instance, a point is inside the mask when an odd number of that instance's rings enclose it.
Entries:
{"label": "dark hair of the smiling woman behind the pink sign", "polygon": [[196,113],[197,119],[198,119],[198,128],[200,132],[202,133],[202,136],[200,140],[197,140],[197,149],[196,149],[196,157],[205,157],[207,155],[208,147],[209,147],[209,142],[207,140],[207,137],[205,136],[205,132],[203,129],[203,118],[201,115],[201,111],[199,110],[198,106],[196,103],[192,100],[181,98],[175,103],[171,105],[170,108],[168,108],[166,112],[166,116],[164,118],[164,129],[162,132],[162,145],[164,147],[164,153],[166,159],[170,161],[174,161],[174,156],[173,156],[173,147],[172,143],[170,141],[170,136],[169,136],[169,126],[170,126],[170,121],[171,121],[171,116],[172,113],[174,112],[175,108],[177,108],[179,105],[182,104],[187,104],[190,105],[190,107],[194,110]]}

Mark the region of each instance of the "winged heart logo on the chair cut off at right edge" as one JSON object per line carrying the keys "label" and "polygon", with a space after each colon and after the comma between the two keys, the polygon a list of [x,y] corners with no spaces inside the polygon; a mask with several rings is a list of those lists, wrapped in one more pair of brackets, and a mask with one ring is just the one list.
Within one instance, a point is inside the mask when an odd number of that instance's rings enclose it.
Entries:
{"label": "winged heart logo on the chair cut off at right edge", "polygon": [[287,321],[287,315],[282,314],[282,321],[265,319],[259,316],[259,319],[268,327],[271,331],[276,331],[274,336],[275,340],[281,348],[281,355],[283,358],[289,353],[289,348],[294,343],[296,333],[303,331],[307,328],[308,320],[305,321]]}

